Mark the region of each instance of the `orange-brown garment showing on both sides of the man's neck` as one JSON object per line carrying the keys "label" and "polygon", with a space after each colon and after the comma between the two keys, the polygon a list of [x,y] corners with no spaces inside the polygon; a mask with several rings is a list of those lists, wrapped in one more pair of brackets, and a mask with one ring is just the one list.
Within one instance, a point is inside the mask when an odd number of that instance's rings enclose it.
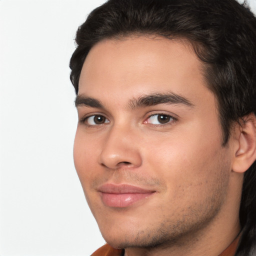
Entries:
{"label": "orange-brown garment showing on both sides of the man's neck", "polygon": [[[223,250],[218,256],[234,256],[235,251],[238,246],[240,236],[238,235],[232,243]],[[91,256],[121,256],[122,255],[121,249],[114,249],[108,244],[103,245],[99,249],[97,249]]]}

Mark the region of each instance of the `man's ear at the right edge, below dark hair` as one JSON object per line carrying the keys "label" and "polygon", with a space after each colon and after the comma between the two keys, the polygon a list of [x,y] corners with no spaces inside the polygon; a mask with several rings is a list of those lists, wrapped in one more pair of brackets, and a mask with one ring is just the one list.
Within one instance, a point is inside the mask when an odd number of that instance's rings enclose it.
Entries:
{"label": "man's ear at the right edge, below dark hair", "polygon": [[235,133],[238,146],[235,149],[232,170],[241,173],[256,159],[256,116],[253,113],[244,116],[239,124],[239,130]]}

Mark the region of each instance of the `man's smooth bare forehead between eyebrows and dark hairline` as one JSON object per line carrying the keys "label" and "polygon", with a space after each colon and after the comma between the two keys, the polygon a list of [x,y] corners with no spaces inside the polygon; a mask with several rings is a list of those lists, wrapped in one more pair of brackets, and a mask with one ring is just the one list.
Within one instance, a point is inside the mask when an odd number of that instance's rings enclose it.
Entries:
{"label": "man's smooth bare forehead between eyebrows and dark hairline", "polygon": [[[192,98],[211,93],[201,61],[187,40],[147,36],[106,39],[89,51],[79,79],[79,94],[102,99],[170,91]],[[100,94],[99,94],[100,93]]]}

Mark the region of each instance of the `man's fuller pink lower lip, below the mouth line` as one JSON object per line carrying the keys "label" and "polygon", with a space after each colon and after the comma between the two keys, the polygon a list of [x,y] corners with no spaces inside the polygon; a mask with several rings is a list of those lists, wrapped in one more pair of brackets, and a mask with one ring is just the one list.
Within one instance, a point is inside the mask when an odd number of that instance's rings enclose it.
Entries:
{"label": "man's fuller pink lower lip, below the mouth line", "polygon": [[109,207],[127,207],[137,201],[146,199],[152,193],[153,192],[113,194],[101,192],[101,199],[103,203]]}

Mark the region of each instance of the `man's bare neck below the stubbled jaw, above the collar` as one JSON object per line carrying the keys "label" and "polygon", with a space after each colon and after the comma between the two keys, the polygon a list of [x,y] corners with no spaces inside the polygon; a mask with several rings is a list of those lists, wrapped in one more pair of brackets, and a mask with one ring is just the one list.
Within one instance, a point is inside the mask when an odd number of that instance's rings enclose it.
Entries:
{"label": "man's bare neck below the stubbled jaw, above the collar", "polygon": [[[237,189],[239,191],[239,189]],[[124,256],[216,256],[221,254],[240,232],[240,194],[226,200],[218,214],[203,228],[153,248],[125,248]],[[229,198],[227,196],[226,198]]]}

